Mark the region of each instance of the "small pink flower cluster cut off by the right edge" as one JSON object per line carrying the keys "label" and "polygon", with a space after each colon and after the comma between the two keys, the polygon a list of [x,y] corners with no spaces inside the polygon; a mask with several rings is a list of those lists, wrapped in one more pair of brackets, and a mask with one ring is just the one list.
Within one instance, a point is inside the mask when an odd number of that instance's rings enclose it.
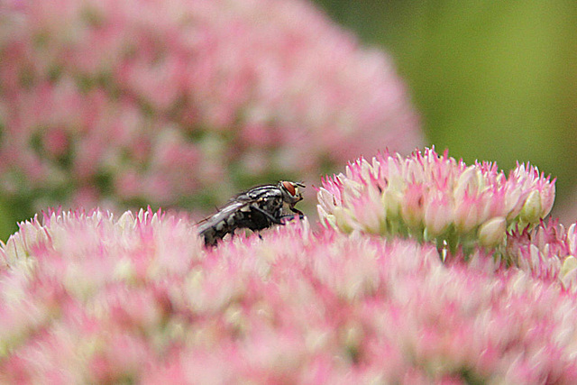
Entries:
{"label": "small pink flower cluster cut off by the right edge", "polygon": [[517,229],[509,234],[503,255],[505,262],[540,279],[557,280],[565,289],[577,290],[577,224],[565,230],[550,220],[533,231]]}

